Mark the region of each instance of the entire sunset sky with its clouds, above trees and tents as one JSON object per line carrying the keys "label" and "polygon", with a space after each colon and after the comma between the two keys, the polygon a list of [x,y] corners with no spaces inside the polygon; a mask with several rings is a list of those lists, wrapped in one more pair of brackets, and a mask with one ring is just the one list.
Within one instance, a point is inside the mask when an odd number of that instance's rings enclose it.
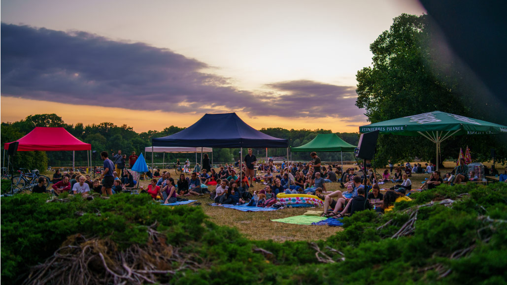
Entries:
{"label": "entire sunset sky with its clouds, above trees and tents", "polygon": [[357,132],[356,72],[411,0],[2,0],[1,119],[188,127],[236,112],[256,129]]}

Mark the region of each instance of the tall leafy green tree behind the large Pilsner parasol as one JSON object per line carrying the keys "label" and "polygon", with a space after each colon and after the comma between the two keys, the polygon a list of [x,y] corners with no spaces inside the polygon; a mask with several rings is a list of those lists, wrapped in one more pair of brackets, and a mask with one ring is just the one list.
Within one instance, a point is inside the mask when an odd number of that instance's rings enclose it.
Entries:
{"label": "tall leafy green tree behind the large Pilsner parasol", "polygon": [[[470,89],[462,66],[452,59],[442,60],[439,38],[427,15],[402,14],[370,45],[373,66],[356,75],[356,106],[366,109],[369,121],[439,110],[503,123],[504,119],[491,116],[494,104],[477,98],[474,89]],[[493,147],[504,159],[504,139],[453,137],[442,144],[442,157],[456,158],[459,147],[469,145],[473,158],[488,160]],[[380,136],[376,157],[382,165],[387,159],[434,159],[434,151],[434,144],[422,137]]]}

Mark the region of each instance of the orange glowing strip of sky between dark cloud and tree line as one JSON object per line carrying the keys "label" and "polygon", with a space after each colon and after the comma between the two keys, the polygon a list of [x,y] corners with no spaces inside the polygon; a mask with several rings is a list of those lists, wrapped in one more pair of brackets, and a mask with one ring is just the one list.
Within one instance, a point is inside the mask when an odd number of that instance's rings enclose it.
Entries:
{"label": "orange glowing strip of sky between dark cloud and tree line", "polygon": [[[0,96],[2,122],[14,122],[28,115],[55,113],[66,124],[83,123],[86,125],[110,122],[117,126],[127,125],[137,133],[149,130],[162,131],[169,126],[189,127],[204,114],[175,113],[162,111],[130,110],[125,108],[100,107],[90,105],[73,105],[41,100],[30,100]],[[19,106],[19,107],[17,107]],[[358,127],[367,125],[364,121],[342,121],[333,117],[319,118],[283,118],[278,116],[255,116],[237,111],[238,116],[252,128],[283,128],[283,129],[324,129],[333,132],[357,133]]]}

